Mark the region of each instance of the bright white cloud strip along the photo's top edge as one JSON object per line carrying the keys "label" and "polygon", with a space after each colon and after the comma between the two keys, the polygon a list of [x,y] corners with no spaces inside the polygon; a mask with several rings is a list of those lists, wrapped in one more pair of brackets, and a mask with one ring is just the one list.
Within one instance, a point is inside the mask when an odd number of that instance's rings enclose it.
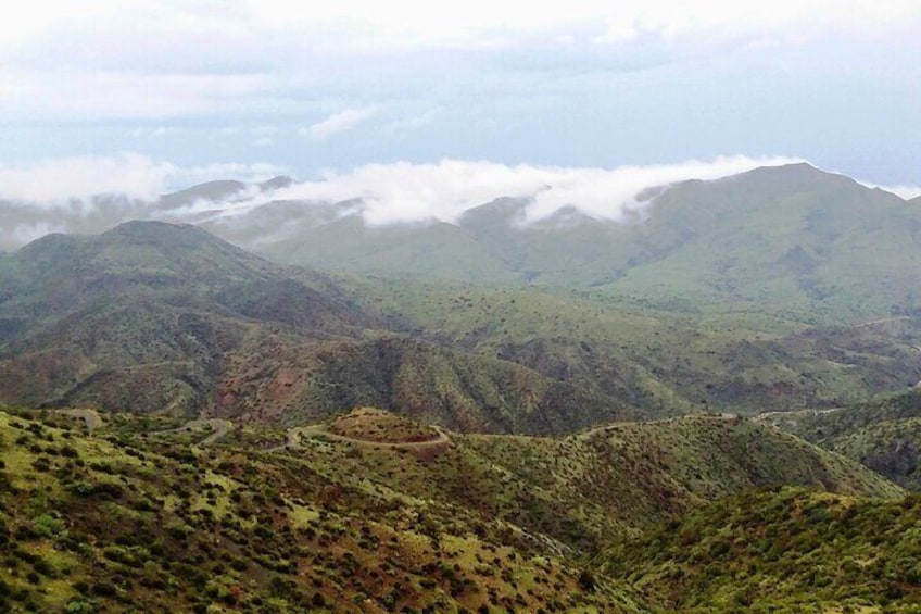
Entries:
{"label": "bright white cloud strip along the photo's top edge", "polygon": [[[74,63],[128,62],[171,70],[176,64],[194,64],[206,68],[224,66],[224,58],[237,50],[244,62],[241,65],[252,65],[264,57],[249,54],[254,45],[277,50],[275,58],[283,57],[291,47],[365,54],[508,48],[535,37],[591,41],[592,37],[581,36],[586,25],[596,33],[594,39],[604,43],[622,43],[643,35],[733,38],[783,30],[821,36],[828,32],[911,32],[910,21],[918,15],[916,0],[861,0],[848,3],[846,10],[831,0],[734,4],[724,0],[570,0],[535,3],[527,11],[517,3],[491,0],[426,5],[414,0],[340,0],[300,8],[292,8],[287,0],[34,0],[17,7],[15,20],[0,24],[0,51],[51,39]],[[72,42],[75,38],[91,39],[98,46],[80,46]],[[213,45],[195,42],[202,39]],[[105,52],[112,48],[118,53]],[[195,52],[188,53],[189,48]],[[290,55],[287,60],[290,63]]]}

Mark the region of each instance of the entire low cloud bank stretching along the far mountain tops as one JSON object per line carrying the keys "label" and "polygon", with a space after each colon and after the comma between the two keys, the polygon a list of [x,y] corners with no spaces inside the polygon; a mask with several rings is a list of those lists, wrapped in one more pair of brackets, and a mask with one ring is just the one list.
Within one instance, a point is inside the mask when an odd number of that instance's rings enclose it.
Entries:
{"label": "entire low cloud bank stretching along the far mountain tops", "polygon": [[[797,158],[717,158],[677,164],[586,168],[507,165],[487,161],[442,160],[437,163],[366,164],[350,171],[328,170],[307,181],[278,181],[260,187],[281,173],[268,164],[213,164],[180,167],[125,153],[114,158],[73,158],[10,167],[0,163],[0,249],[14,249],[46,231],[101,231],[137,217],[171,222],[217,222],[226,227],[248,225],[249,214],[262,205],[287,201],[291,222],[313,216],[313,208],[348,202],[338,214],[358,213],[369,226],[431,221],[456,222],[471,208],[503,197],[528,202],[519,221],[546,218],[571,206],[596,218],[620,221],[642,212],[639,199],[647,188],[689,180],[712,180],[761,166],[803,162]],[[159,202],[160,195],[213,179],[237,179],[249,187],[185,203]],[[871,185],[866,184],[865,185]],[[903,198],[921,195],[912,187],[883,188]],[[194,192],[190,192],[193,195]],[[202,195],[215,193],[207,190]],[[100,195],[121,198],[100,199]],[[215,197],[211,197],[215,198]],[[325,211],[329,211],[328,209]],[[293,217],[291,217],[293,216]]]}

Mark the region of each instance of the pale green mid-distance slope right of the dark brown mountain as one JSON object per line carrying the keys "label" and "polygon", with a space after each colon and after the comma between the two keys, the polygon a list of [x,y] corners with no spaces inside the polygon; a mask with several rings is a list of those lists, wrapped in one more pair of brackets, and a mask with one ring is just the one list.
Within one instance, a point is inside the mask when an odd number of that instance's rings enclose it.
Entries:
{"label": "pale green mid-distance slope right of the dark brown mountain", "polygon": [[408,334],[500,356],[647,416],[833,406],[921,378],[921,321],[806,328],[757,314],[679,315],[534,288],[343,277]]}

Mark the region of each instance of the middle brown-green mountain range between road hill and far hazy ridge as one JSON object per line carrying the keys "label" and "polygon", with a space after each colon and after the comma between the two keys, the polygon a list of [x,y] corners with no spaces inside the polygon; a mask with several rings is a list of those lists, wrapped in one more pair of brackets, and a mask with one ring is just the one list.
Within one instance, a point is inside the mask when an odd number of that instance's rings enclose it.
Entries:
{"label": "middle brown-green mountain range between road hill and far hazy ridge", "polygon": [[194,226],[133,222],[0,259],[0,398],[285,424],[370,404],[458,430],[560,434],[836,406],[921,379],[912,317],[791,334],[765,322],[333,279]]}

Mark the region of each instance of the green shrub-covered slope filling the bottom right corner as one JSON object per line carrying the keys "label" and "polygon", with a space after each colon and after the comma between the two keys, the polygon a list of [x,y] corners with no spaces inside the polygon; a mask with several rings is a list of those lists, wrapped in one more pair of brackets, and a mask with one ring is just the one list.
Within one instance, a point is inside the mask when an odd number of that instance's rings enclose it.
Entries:
{"label": "green shrub-covered slope filling the bottom right corner", "polygon": [[921,499],[881,502],[800,489],[748,492],[609,552],[666,611],[917,612]]}

